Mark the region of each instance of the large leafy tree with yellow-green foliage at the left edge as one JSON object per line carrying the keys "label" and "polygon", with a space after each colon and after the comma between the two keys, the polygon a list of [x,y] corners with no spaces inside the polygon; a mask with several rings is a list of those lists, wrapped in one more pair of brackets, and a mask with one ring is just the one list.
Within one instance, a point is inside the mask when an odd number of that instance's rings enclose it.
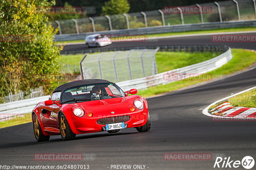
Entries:
{"label": "large leafy tree with yellow-green foliage at the left edge", "polygon": [[0,2],[0,96],[44,85],[54,89],[54,79],[38,75],[57,74],[60,47],[53,43],[58,30],[47,25],[48,16],[36,7],[54,5],[47,0],[2,0]]}

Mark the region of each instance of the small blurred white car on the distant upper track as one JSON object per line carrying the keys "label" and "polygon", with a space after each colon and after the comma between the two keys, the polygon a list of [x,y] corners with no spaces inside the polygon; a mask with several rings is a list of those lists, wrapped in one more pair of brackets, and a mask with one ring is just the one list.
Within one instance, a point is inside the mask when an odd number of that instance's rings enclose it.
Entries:
{"label": "small blurred white car on the distant upper track", "polygon": [[103,36],[101,34],[92,34],[85,37],[85,47],[89,48],[91,46],[100,47],[107,46],[112,44],[112,41],[106,35]]}

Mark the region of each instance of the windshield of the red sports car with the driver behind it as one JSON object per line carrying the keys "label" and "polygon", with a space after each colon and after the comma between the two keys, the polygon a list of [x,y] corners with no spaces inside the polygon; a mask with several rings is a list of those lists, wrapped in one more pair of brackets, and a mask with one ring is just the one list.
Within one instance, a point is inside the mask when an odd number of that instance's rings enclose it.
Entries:
{"label": "windshield of the red sports car with the driver behind it", "polygon": [[124,91],[116,84],[112,83],[96,83],[76,86],[63,91],[62,93],[62,103],[79,103],[125,96]]}

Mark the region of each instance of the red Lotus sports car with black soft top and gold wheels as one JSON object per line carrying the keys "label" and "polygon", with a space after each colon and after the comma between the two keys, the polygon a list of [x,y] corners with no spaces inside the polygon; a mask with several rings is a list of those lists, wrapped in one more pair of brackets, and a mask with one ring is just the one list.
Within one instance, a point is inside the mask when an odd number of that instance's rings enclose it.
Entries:
{"label": "red Lotus sports car with black soft top and gold wheels", "polygon": [[63,84],[32,111],[36,140],[48,141],[50,135],[71,140],[76,134],[115,133],[124,128],[149,131],[148,103],[136,93],[137,89],[124,92],[115,83],[100,79]]}

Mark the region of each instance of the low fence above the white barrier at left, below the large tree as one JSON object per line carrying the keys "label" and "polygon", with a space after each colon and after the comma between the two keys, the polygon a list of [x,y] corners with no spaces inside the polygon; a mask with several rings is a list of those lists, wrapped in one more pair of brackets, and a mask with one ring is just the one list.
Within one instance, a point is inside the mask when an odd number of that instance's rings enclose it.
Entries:
{"label": "low fence above the white barrier at left, below the large tree", "polygon": [[0,98],[0,103],[8,103],[8,102],[13,102],[18,100],[40,97],[40,96],[44,96],[42,86],[36,89],[30,89],[30,91],[20,91],[18,94],[9,93],[8,96],[4,96]]}

